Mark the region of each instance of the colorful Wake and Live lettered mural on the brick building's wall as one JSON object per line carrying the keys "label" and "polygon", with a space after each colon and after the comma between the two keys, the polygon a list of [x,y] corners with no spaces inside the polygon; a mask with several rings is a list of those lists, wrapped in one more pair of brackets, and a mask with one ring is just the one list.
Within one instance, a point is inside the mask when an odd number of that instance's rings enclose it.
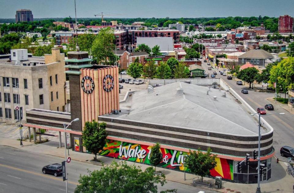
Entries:
{"label": "colorful Wake and Live lettered mural on the brick building's wall", "polygon": [[[151,165],[149,162],[151,148],[152,146],[108,140],[99,155]],[[165,148],[160,148],[160,150],[163,159],[158,165],[159,167],[180,171],[188,170],[184,167],[183,162],[189,152]],[[219,157],[216,158],[216,161],[217,166],[210,171],[211,176],[221,176],[224,179],[233,180],[233,161]]]}

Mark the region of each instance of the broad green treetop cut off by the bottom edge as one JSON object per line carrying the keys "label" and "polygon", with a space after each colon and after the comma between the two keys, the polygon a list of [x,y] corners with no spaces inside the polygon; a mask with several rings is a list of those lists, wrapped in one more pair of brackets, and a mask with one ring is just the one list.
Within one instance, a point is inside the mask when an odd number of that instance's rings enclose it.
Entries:
{"label": "broad green treetop cut off by the bottom edge", "polygon": [[[148,167],[145,171],[140,166],[128,165],[126,161],[112,162],[109,166],[102,166],[100,170],[94,170],[88,175],[80,176],[79,185],[74,190],[75,193],[92,192],[118,192],[136,193],[153,192],[157,193],[157,185],[166,184],[165,176],[154,176],[154,168]],[[176,192],[176,190],[166,190],[164,192]]]}

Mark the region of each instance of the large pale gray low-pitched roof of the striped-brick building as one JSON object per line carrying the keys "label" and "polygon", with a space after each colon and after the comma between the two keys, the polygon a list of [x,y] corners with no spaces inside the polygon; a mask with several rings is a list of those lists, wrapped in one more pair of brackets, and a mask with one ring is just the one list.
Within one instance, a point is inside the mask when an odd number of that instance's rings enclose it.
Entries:
{"label": "large pale gray low-pitched roof of the striped-brick building", "polygon": [[[177,89],[183,94],[177,96]],[[245,106],[225,91],[176,82],[147,90],[134,92],[126,102],[120,103],[118,115],[104,115],[119,119],[182,127],[199,131],[229,135],[256,136],[258,122]],[[213,97],[217,97],[214,100]],[[270,131],[262,128],[261,133]]]}

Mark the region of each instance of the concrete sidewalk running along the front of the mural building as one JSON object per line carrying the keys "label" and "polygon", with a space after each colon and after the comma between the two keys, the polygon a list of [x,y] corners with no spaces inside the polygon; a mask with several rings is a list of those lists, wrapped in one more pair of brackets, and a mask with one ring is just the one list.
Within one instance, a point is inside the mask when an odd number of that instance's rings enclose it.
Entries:
{"label": "concrete sidewalk running along the front of the mural building", "polygon": [[[11,146],[18,149],[23,149],[26,151],[32,151],[36,153],[43,153],[48,154],[52,156],[62,157],[64,158],[64,148],[57,148],[52,146],[47,146],[43,144],[34,144],[31,142],[23,142],[23,147],[19,146],[20,141],[8,139],[8,138],[1,138],[0,137],[0,145],[3,146]],[[87,162],[91,164],[88,160],[92,160],[94,155],[88,154],[88,153],[80,153],[70,150],[70,157],[72,160],[81,161],[81,162]],[[111,162],[114,160],[113,158],[109,157],[103,157],[103,156],[97,156],[98,159],[104,162],[105,165],[111,164]],[[115,159],[115,161],[119,162],[120,160]],[[128,164],[135,164],[141,166],[142,170],[145,170],[145,168],[150,167],[149,165],[143,165],[138,164],[134,162],[128,162]],[[276,163],[276,158],[272,158],[272,178],[266,182],[262,182],[260,184],[261,191],[262,192],[293,192],[293,182],[294,178],[292,176],[289,176],[286,173],[286,163],[285,162],[279,162]],[[166,180],[178,182],[182,184],[188,184],[191,185],[193,178],[195,178],[195,175],[187,174],[186,173],[186,179],[184,180],[184,173],[173,171],[170,169],[165,168],[157,168],[157,170],[162,171],[165,176]],[[211,183],[214,187],[214,179],[211,178],[203,178],[204,182]],[[237,184],[232,182],[225,182],[223,181],[223,187],[221,189],[216,188],[206,188],[201,187],[202,189],[210,190],[210,191],[218,191],[218,192],[240,192],[240,193],[250,193],[255,192],[257,184]]]}

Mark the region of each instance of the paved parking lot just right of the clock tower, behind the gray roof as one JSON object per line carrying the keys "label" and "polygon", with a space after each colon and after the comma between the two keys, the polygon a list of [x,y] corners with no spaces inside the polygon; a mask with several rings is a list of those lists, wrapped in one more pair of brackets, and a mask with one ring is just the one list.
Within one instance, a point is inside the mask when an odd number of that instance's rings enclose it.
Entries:
{"label": "paved parking lot just right of the clock tower, behind the gray roof", "polygon": [[[130,78],[132,80],[134,79],[134,78],[130,77],[127,74],[120,74],[119,75],[119,78],[122,78],[122,79]],[[134,90],[145,90],[145,89],[147,89],[147,81],[148,81],[148,79],[137,78],[136,80],[142,80],[142,81],[144,81],[144,84],[135,85],[135,84],[126,84],[124,82],[123,83],[119,83],[120,85],[123,86],[123,89],[120,89],[119,100],[123,100],[123,98],[126,95],[126,92],[128,92],[130,90],[131,91],[134,91]]]}

